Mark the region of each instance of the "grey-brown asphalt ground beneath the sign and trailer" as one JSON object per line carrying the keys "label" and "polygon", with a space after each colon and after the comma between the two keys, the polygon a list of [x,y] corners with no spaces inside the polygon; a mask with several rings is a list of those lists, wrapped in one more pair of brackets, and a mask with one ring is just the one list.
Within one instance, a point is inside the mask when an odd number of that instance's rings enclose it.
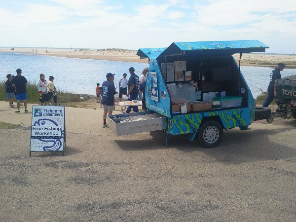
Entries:
{"label": "grey-brown asphalt ground beneath the sign and trailer", "polygon": [[[296,127],[253,123],[217,148],[116,137],[66,108],[65,156],[29,157],[29,113],[0,102],[0,221],[296,221]],[[290,119],[290,121],[296,121]]]}

